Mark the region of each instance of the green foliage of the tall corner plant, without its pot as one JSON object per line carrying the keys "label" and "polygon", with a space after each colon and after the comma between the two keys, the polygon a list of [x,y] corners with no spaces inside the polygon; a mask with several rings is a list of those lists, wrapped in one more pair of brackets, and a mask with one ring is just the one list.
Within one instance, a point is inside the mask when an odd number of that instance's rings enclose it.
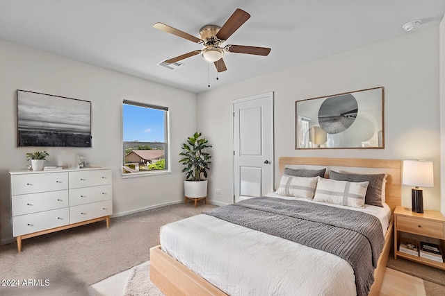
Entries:
{"label": "green foliage of the tall corner plant, without its pot", "polygon": [[182,156],[179,162],[184,164],[182,172],[186,173],[186,179],[190,181],[202,181],[204,177],[207,177],[207,171],[210,169],[209,159],[211,155],[205,152],[206,148],[211,147],[208,145],[209,141],[205,138],[200,138],[201,133],[195,132],[193,137],[188,137],[187,142],[182,144],[182,152],[179,153]]}

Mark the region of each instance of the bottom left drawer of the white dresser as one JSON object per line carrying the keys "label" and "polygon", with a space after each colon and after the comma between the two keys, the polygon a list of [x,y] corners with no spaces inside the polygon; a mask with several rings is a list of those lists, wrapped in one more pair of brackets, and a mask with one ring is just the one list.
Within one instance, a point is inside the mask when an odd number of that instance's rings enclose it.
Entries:
{"label": "bottom left drawer of the white dresser", "polygon": [[70,224],[70,210],[68,208],[41,211],[13,217],[13,234],[21,236],[41,230],[51,229]]}

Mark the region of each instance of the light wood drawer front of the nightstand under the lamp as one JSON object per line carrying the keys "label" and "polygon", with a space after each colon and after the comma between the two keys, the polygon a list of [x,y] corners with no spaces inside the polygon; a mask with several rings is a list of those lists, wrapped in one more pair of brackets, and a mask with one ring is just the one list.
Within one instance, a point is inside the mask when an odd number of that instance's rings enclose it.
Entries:
{"label": "light wood drawer front of the nightstand under the lamp", "polygon": [[444,223],[407,216],[397,216],[397,230],[444,239]]}

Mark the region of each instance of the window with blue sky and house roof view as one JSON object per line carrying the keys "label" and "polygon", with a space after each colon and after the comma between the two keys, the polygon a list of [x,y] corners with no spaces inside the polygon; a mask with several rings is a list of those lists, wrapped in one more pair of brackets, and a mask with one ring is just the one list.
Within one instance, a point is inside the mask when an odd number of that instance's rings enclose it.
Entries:
{"label": "window with blue sky and house roof view", "polygon": [[168,172],[168,107],[124,100],[122,125],[122,174]]}

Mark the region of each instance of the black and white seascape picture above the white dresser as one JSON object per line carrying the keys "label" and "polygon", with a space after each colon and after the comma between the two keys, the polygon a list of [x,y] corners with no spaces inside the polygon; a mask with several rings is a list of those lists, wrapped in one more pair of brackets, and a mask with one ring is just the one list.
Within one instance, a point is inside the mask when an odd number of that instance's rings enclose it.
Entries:
{"label": "black and white seascape picture above the white dresser", "polygon": [[91,102],[17,89],[17,146],[91,147]]}

